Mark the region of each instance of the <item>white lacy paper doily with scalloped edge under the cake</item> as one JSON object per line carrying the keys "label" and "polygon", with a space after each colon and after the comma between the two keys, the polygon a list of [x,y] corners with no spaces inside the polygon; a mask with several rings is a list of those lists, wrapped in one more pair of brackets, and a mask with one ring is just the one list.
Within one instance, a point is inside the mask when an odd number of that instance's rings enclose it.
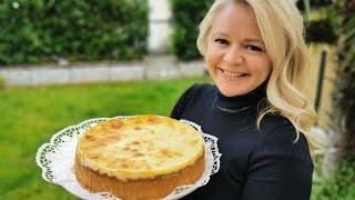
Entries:
{"label": "white lacy paper doily with scalloped edge under the cake", "polygon": [[[53,134],[50,142],[43,143],[37,151],[36,162],[42,169],[42,178],[48,182],[62,186],[67,191],[81,199],[119,199],[109,192],[92,193],[88,191],[80,186],[72,171],[79,136],[109,119],[111,118],[90,119]],[[196,183],[178,187],[171,194],[164,198],[165,200],[180,199],[199,187],[205,186],[210,180],[210,176],[216,173],[220,169],[220,157],[222,154],[219,152],[217,138],[203,133],[201,127],[194,122],[187,120],[180,121],[192,126],[203,136],[205,143],[205,171]]]}

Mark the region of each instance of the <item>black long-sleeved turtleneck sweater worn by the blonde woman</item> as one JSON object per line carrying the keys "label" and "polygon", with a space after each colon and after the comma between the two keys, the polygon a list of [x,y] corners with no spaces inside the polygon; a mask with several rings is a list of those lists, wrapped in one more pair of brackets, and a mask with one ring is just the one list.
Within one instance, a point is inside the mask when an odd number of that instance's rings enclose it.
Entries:
{"label": "black long-sleeved turtleneck sweater worn by the blonde woman", "polygon": [[[313,162],[305,137],[286,119],[266,114],[256,129],[265,83],[244,96],[225,97],[215,86],[194,84],[175,104],[171,117],[201,126],[219,138],[221,166],[210,182],[184,199],[310,199]],[[264,102],[264,101],[263,101]]]}

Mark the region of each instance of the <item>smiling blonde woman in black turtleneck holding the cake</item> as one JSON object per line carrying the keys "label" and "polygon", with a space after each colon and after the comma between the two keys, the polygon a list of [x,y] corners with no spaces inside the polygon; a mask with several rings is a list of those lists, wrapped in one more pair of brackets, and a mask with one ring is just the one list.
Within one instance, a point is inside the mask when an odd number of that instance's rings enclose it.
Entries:
{"label": "smiling blonde woman in black turtleneck holding the cake", "polygon": [[303,20],[288,0],[216,0],[197,48],[215,86],[194,84],[171,117],[219,138],[220,171],[185,199],[310,199],[310,129],[302,93]]}

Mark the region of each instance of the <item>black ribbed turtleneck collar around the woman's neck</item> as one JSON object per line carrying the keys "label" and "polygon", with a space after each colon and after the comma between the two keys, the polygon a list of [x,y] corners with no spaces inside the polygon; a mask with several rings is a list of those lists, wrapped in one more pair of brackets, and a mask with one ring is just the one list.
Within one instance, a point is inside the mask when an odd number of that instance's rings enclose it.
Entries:
{"label": "black ribbed turtleneck collar around the woman's neck", "polygon": [[257,103],[266,97],[267,81],[243,96],[225,97],[216,88],[215,106],[217,110],[225,112],[240,112],[257,107]]}

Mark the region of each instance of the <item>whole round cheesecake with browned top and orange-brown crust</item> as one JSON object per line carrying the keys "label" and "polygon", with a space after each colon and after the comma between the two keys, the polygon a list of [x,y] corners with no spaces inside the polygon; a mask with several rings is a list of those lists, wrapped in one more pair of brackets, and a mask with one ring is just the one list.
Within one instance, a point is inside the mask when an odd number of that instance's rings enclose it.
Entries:
{"label": "whole round cheesecake with browned top and orange-brown crust", "polygon": [[74,173],[92,192],[121,199],[161,199],[196,182],[205,168],[202,134],[158,116],[112,118],[82,133]]}

